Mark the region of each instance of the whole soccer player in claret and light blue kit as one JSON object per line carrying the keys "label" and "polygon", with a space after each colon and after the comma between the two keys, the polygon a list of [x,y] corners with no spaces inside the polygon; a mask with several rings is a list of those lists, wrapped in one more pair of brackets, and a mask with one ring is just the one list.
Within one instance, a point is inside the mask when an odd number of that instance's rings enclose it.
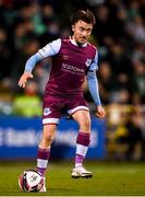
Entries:
{"label": "whole soccer player in claret and light blue kit", "polygon": [[[32,70],[36,62],[47,57],[52,58],[50,77],[44,95],[44,130],[37,155],[37,170],[44,177],[62,111],[65,111],[80,126],[75,164],[71,176],[92,177],[92,172],[83,166],[90,141],[89,109],[82,90],[85,78],[96,104],[96,116],[105,117],[96,78],[98,51],[88,43],[94,25],[94,14],[88,10],[78,10],[72,19],[73,35],[67,39],[53,40],[33,55],[26,61],[24,73],[19,81],[19,85],[25,88],[27,80],[33,78]],[[45,186],[41,192],[46,192]]]}

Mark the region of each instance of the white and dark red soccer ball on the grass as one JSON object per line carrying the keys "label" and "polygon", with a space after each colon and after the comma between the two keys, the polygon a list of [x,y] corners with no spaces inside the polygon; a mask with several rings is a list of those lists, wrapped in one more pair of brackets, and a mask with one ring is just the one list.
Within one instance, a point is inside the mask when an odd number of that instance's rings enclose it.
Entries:
{"label": "white and dark red soccer ball on the grass", "polygon": [[24,192],[39,192],[44,186],[44,178],[37,171],[27,170],[19,177],[19,185]]}

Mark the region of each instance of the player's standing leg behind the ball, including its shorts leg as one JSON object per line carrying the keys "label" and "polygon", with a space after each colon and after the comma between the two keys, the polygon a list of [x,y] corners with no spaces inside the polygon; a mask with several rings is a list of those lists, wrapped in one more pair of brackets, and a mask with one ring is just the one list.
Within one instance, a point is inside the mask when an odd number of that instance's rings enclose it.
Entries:
{"label": "player's standing leg behind the ball, including its shorts leg", "polygon": [[[58,100],[52,96],[48,96],[47,101],[44,102],[44,129],[37,154],[37,170],[44,177],[50,158],[51,143],[53,141],[57,125],[59,124],[59,118],[61,115],[57,103],[59,103]],[[40,192],[46,192],[45,186]]]}

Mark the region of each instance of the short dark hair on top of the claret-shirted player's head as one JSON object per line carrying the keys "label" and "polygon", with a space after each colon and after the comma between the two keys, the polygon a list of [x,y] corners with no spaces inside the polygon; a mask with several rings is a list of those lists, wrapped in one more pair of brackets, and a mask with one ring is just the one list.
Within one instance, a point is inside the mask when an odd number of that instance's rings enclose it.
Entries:
{"label": "short dark hair on top of the claret-shirted player's head", "polygon": [[80,20],[88,24],[96,24],[95,15],[89,10],[78,10],[76,13],[74,13],[74,15],[72,16],[72,24],[77,23]]}

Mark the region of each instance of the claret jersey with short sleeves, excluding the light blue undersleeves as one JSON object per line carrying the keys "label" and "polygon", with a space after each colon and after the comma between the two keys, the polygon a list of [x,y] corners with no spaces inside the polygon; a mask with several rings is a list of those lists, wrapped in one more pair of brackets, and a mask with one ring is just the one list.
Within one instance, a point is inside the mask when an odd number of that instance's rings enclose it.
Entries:
{"label": "claret jersey with short sleeves, excluding the light blue undersleeves", "polygon": [[52,67],[46,94],[68,95],[82,92],[87,70],[94,70],[97,66],[96,48],[89,44],[78,47],[71,39],[57,39],[38,53],[45,58],[50,55],[49,51],[52,55]]}

